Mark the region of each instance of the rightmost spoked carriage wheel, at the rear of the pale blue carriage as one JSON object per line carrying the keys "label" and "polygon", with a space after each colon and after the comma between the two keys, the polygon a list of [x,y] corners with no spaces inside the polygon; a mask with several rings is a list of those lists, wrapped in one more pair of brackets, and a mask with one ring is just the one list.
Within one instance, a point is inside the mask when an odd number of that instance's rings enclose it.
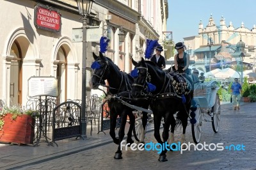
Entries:
{"label": "rightmost spoked carriage wheel, at the rear of the pale blue carriage", "polygon": [[215,104],[212,107],[212,129],[215,133],[219,131],[220,128],[220,97],[216,94]]}

